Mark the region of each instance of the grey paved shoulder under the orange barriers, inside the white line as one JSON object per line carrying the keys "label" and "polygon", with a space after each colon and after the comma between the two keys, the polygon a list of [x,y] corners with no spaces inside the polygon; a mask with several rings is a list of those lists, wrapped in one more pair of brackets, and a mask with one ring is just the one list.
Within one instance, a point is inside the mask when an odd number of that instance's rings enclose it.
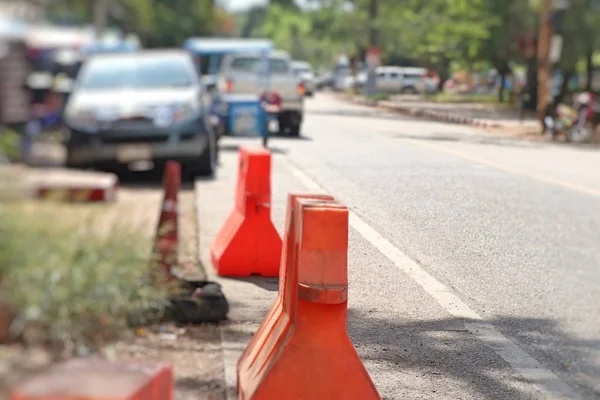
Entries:
{"label": "grey paved shoulder under the orange barriers, inside the white line", "polygon": [[[210,244],[233,207],[237,154],[224,153],[219,180],[196,183],[200,246],[211,269]],[[281,231],[288,192],[317,188],[298,176],[284,155],[273,163],[273,220]],[[335,196],[335,193],[331,193]],[[465,319],[436,302],[389,254],[365,239],[355,222],[349,249],[349,332],[384,398],[547,398],[474,335]],[[235,387],[235,362],[275,296],[269,279],[221,279],[232,311],[223,326],[226,375]]]}

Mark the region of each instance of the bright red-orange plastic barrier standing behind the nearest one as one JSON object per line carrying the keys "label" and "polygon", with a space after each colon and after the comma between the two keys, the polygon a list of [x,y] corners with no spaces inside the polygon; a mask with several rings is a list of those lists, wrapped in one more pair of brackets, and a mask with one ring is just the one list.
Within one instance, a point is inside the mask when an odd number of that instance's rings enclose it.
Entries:
{"label": "bright red-orange plastic barrier standing behind the nearest one", "polygon": [[221,276],[275,277],[282,241],[271,221],[271,153],[241,148],[235,207],[211,248]]}

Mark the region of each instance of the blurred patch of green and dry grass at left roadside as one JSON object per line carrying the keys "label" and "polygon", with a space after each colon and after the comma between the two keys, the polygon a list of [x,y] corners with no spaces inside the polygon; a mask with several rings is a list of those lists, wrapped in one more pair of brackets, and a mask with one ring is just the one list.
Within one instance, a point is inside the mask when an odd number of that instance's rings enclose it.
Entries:
{"label": "blurred patch of green and dry grass at left roadside", "polygon": [[23,332],[63,351],[100,348],[127,330],[132,314],[144,310],[138,322],[149,323],[165,309],[144,239],[124,225],[90,228],[102,207],[0,203],[1,289]]}

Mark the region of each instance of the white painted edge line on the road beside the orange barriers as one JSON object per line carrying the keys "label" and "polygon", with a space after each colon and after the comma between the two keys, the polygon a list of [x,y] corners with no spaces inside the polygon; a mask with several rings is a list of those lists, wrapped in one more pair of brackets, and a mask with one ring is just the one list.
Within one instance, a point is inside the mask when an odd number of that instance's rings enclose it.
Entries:
{"label": "white painted edge line on the road beside the orange barriers", "polygon": [[[314,193],[327,194],[327,190],[323,186],[295,165],[292,160],[288,157],[282,157],[281,159],[290,173],[298,178],[308,190]],[[398,269],[421,286],[450,315],[465,318],[467,320],[465,328],[493,349],[526,381],[534,384],[545,399],[580,399],[579,394],[567,383],[523,351],[521,347],[504,336],[492,324],[485,322],[452,289],[421,268],[353,211],[350,211],[350,226],[394,263]]]}

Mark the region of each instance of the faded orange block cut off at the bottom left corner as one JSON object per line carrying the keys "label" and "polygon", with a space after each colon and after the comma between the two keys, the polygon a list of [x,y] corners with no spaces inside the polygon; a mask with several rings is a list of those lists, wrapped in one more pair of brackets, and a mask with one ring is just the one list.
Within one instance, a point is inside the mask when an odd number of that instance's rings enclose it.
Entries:
{"label": "faded orange block cut off at the bottom left corner", "polygon": [[167,364],[75,359],[26,380],[11,400],[173,400]]}

